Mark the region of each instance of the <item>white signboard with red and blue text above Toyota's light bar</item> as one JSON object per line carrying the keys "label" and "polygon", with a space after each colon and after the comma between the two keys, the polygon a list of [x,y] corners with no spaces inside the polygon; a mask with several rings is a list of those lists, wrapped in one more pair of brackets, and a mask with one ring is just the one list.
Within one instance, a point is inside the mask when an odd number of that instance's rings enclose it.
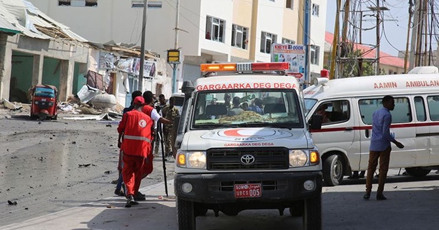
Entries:
{"label": "white signboard with red and blue text above Toyota's light bar", "polygon": [[287,74],[304,81],[305,45],[303,44],[272,44],[272,62],[289,62]]}

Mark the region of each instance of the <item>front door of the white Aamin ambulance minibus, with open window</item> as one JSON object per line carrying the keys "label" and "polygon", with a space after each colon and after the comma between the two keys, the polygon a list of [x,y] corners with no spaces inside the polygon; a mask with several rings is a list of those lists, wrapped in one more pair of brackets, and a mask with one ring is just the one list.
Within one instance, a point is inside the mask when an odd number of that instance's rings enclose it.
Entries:
{"label": "front door of the white Aamin ambulance minibus, with open window", "polygon": [[355,120],[351,99],[332,99],[319,101],[313,114],[324,116],[322,129],[311,132],[314,143],[322,155],[329,151],[346,154],[351,167],[358,168],[359,142],[354,142]]}

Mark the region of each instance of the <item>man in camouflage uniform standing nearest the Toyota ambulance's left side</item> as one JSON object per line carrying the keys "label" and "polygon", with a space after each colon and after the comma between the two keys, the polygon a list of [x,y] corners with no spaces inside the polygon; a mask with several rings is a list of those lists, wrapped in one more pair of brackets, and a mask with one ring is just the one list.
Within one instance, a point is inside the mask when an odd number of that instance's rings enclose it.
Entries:
{"label": "man in camouflage uniform standing nearest the Toyota ambulance's left side", "polygon": [[[169,105],[166,105],[162,110],[163,118],[168,120],[173,120],[176,116],[179,116],[178,109],[174,107],[176,99],[174,97],[169,98]],[[174,144],[174,136],[172,133],[172,128],[174,125],[163,124],[163,141],[165,142],[166,156],[170,157],[172,155],[172,144]]]}

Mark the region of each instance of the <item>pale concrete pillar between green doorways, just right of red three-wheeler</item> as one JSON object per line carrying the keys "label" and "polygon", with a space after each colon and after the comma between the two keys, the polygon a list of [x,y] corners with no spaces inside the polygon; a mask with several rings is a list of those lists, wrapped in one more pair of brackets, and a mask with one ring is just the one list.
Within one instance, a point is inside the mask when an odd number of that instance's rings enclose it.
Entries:
{"label": "pale concrete pillar between green doorways, just right of red three-wheeler", "polygon": [[72,60],[61,61],[60,88],[58,89],[58,100],[67,101],[67,97],[72,94],[73,73],[75,62]]}

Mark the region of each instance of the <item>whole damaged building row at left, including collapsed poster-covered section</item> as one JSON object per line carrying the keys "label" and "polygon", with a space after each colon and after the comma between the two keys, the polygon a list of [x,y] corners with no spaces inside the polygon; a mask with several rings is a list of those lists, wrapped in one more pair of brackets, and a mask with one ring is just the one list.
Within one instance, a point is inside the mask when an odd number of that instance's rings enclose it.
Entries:
{"label": "whole damaged building row at left, including collapsed poster-covered section", "polygon": [[[109,64],[108,55],[112,56]],[[0,100],[29,103],[29,88],[49,84],[58,88],[59,101],[67,101],[94,82],[100,93],[113,94],[117,103],[126,106],[139,84],[135,66],[139,56],[139,49],[115,42],[89,42],[29,1],[0,1]],[[126,60],[132,65],[124,66]],[[154,71],[143,77],[143,88],[161,90],[167,79],[162,71],[165,60],[150,53],[145,60],[145,68],[154,65]],[[101,83],[96,85],[99,76]]]}

